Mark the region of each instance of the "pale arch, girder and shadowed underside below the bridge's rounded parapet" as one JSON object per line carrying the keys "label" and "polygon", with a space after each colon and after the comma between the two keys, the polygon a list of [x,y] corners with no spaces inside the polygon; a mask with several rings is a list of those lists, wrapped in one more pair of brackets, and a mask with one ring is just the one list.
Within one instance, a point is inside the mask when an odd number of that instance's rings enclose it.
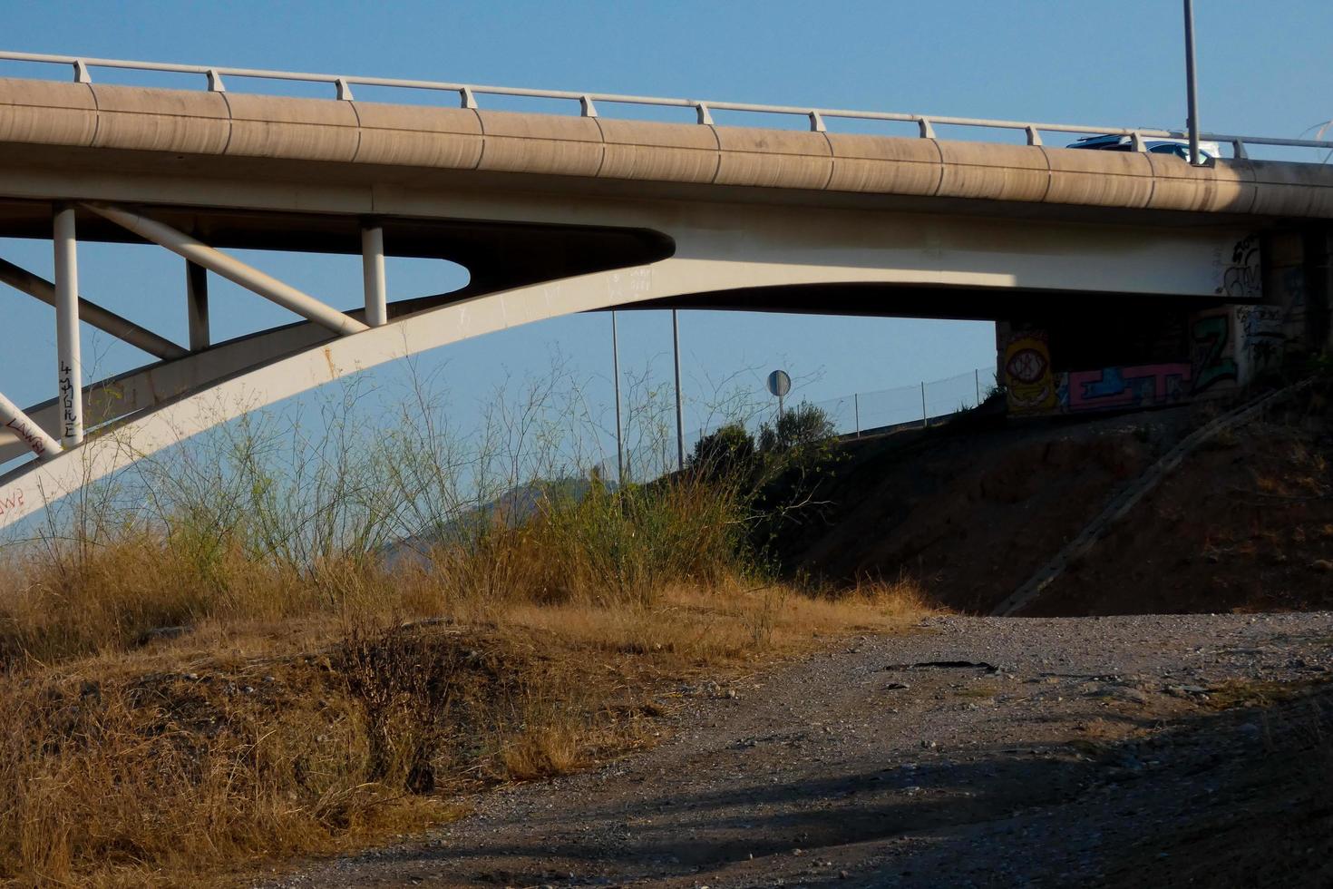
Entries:
{"label": "pale arch, girder and shadowed underside below the bridge's rounded parapet", "polygon": [[[0,477],[0,504],[9,504],[0,505],[0,528],[245,409],[575,312],[1005,320],[1076,317],[1112,304],[1122,313],[1189,312],[1262,296],[1258,252],[1242,249],[1260,223],[1221,213],[1004,204],[1012,212],[1001,215],[997,201],[968,199],[930,199],[926,212],[912,204],[925,199],[901,196],[653,183],[576,192],[572,180],[540,175],[509,175],[496,188],[495,176],[479,173],[463,183],[439,171],[383,177],[383,168],[363,167],[337,177],[345,165],[259,161],[231,161],[223,176],[193,160],[173,167],[141,155],[108,173],[59,160],[29,152],[0,167],[0,237],[49,239],[53,212],[64,212],[80,241],[153,241],[192,263],[224,263],[228,248],[360,253],[369,263],[367,233],[377,232],[385,255],[451,260],[472,279],[457,293],[389,303],[379,327],[369,284],[367,308],[347,312],[297,293],[280,304],[311,320],[196,341],[85,387],[88,428],[116,421],[115,432]],[[84,296],[95,299],[96,288],[85,280]],[[25,413],[55,435],[61,411],[52,400]],[[0,461],[25,452],[17,435],[0,432]]]}

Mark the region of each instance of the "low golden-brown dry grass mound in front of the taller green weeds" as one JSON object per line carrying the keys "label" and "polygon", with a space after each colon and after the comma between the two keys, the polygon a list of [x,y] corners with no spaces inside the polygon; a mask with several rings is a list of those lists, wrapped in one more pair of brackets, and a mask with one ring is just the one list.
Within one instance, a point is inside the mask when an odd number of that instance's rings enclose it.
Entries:
{"label": "low golden-brown dry grass mound in front of the taller green weeds", "polygon": [[0,680],[0,876],[175,884],[420,829],[464,790],[651,742],[653,696],[684,677],[917,608],[906,589],[676,588],[651,606],[516,604],[344,636],[215,621],[28,664]]}

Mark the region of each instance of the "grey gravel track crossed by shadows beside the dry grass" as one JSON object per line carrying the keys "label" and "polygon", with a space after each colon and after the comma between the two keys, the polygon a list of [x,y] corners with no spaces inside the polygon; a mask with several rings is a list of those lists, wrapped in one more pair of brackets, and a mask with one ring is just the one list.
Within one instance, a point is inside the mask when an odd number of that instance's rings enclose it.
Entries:
{"label": "grey gravel track crossed by shadows beside the dry grass", "polygon": [[933,617],[682,688],[653,750],[265,885],[1333,885],[1328,822],[1296,817],[1328,781],[1262,794],[1310,732],[1217,706],[1324,678],[1328,612]]}

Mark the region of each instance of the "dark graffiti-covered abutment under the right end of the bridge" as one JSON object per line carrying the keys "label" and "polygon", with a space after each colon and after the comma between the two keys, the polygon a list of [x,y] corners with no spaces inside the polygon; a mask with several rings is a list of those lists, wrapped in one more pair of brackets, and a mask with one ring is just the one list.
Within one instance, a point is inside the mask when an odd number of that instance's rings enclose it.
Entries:
{"label": "dark graffiti-covered abutment under the right end of the bridge", "polygon": [[[1333,349],[1333,228],[1237,243],[1226,296],[1245,301],[1070,301],[996,324],[1014,415],[1153,408],[1225,396]],[[1220,293],[1221,296],[1221,293]]]}

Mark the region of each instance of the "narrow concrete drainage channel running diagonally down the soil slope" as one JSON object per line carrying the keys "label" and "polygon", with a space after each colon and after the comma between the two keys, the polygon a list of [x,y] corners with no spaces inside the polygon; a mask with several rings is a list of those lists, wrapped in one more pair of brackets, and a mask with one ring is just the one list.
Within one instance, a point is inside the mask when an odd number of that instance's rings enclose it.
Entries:
{"label": "narrow concrete drainage channel running diagonally down the soil slope", "polygon": [[1037,569],[1022,586],[1016,589],[1013,594],[1000,602],[990,613],[997,617],[1010,617],[1030,605],[1076,558],[1090,550],[1113,524],[1124,518],[1144,498],[1144,494],[1170,474],[1190,452],[1222,432],[1249,423],[1266,408],[1286,401],[1312,383],[1313,380],[1302,380],[1284,389],[1260,396],[1234,411],[1214,417],[1182,439],[1174,448],[1162,454],[1157,462],[1149,466],[1144,474],[1138,476],[1138,478],[1112,497],[1105,509],[1088,522],[1077,537],[1065,544],[1050,561]]}

